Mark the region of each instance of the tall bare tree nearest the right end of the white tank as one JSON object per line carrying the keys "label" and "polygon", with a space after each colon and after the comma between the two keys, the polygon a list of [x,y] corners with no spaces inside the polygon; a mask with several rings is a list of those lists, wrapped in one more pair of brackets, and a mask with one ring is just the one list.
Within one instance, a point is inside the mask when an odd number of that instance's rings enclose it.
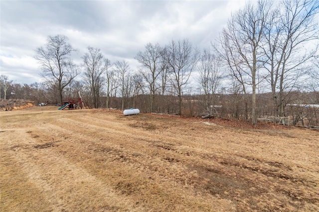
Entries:
{"label": "tall bare tree nearest the right end of the white tank", "polygon": [[157,83],[157,79],[160,76],[160,73],[163,71],[163,60],[162,60],[162,48],[160,44],[151,44],[148,43],[145,46],[144,52],[138,52],[135,59],[140,63],[140,72],[143,78],[148,84],[150,89],[150,109],[151,112],[154,110],[155,94],[156,91],[160,88],[160,85]]}

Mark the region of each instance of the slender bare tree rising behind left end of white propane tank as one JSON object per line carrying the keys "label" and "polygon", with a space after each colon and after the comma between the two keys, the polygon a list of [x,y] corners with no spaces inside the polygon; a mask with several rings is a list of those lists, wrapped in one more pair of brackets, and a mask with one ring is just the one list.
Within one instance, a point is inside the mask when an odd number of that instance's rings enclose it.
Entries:
{"label": "slender bare tree rising behind left end of white propane tank", "polygon": [[129,80],[130,75],[130,65],[127,61],[116,61],[114,64],[114,71],[118,74],[120,78],[120,86],[121,86],[121,93],[122,93],[122,110],[124,110],[124,103],[127,99],[126,87],[127,81]]}

